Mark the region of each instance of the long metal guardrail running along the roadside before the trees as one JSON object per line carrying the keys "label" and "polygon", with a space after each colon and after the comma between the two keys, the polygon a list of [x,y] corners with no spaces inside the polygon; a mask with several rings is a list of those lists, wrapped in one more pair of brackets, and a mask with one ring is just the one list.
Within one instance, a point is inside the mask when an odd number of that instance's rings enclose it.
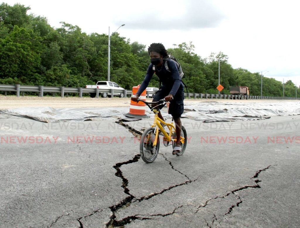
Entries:
{"label": "long metal guardrail running along the roadside before the trees", "polygon": [[[113,90],[113,89],[90,89],[90,88],[74,88],[74,87],[55,87],[55,86],[42,86],[42,85],[7,85],[0,84],[0,91],[4,91],[4,95],[7,95],[7,92],[16,92],[16,96],[24,96],[25,92],[37,92],[38,96],[43,97],[44,93],[52,93],[55,96],[55,93],[61,93],[61,97],[64,97],[64,94],[68,96],[68,93],[78,93],[79,97],[82,97],[83,93],[96,93],[96,98],[99,98],[99,94],[107,93],[111,97],[117,96],[120,93],[124,94],[124,97],[131,96],[131,90]],[[146,91],[147,97],[152,97],[155,92]],[[232,95],[232,94],[212,94],[212,93],[184,93],[184,96],[188,99],[276,99],[276,100],[300,100],[300,98],[295,97],[278,97],[278,96],[248,96],[248,95]]]}

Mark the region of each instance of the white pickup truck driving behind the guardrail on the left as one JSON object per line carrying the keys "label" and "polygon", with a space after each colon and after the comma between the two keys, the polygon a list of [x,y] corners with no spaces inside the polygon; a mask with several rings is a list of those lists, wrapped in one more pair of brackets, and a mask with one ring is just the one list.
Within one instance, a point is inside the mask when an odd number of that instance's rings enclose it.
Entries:
{"label": "white pickup truck driving behind the guardrail on the left", "polygon": [[[95,85],[86,85],[85,88],[90,88],[90,89],[113,89],[113,95],[114,96],[119,96],[119,97],[124,97],[124,89],[120,87],[117,83],[112,82],[112,81],[97,81],[97,84]],[[111,93],[101,93],[101,97],[107,97],[111,96]],[[96,96],[96,93],[90,93],[90,97],[94,98]]]}

